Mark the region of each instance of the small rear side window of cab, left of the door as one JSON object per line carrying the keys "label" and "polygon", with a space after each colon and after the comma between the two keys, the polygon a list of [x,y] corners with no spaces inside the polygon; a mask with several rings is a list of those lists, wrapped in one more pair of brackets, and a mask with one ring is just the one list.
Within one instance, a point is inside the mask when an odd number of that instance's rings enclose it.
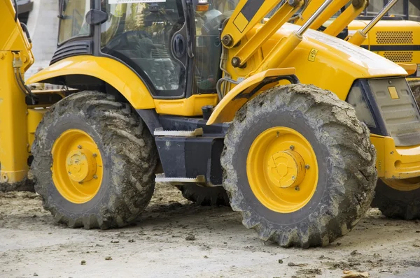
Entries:
{"label": "small rear side window of cab, left of the door", "polygon": [[59,8],[59,44],[78,36],[90,36],[90,25],[85,22],[90,0],[62,0]]}

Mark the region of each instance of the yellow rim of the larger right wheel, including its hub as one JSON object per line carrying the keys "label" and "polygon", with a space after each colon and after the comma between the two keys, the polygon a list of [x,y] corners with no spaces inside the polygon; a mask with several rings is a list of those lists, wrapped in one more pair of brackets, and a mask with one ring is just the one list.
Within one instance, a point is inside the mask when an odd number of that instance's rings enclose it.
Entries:
{"label": "yellow rim of the larger right wheel, including its hub", "polygon": [[287,127],[263,131],[246,159],[248,182],[269,210],[290,213],[304,207],[318,184],[314,149],[302,134]]}

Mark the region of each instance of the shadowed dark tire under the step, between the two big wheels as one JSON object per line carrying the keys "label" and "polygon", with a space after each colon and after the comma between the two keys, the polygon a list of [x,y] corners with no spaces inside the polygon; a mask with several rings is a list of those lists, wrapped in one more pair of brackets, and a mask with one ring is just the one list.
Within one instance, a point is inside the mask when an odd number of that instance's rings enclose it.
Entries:
{"label": "shadowed dark tire under the step, between the two big wheels", "polygon": [[197,205],[229,206],[229,196],[223,186],[202,187],[196,184],[178,185],[182,196]]}

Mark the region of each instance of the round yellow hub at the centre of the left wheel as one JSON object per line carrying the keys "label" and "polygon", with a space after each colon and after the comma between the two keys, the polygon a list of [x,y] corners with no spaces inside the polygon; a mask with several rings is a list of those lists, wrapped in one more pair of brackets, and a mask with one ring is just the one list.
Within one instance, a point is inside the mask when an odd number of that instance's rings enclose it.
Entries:
{"label": "round yellow hub at the centre of the left wheel", "polygon": [[87,182],[92,180],[97,171],[97,162],[89,149],[75,149],[66,158],[66,169],[71,180]]}

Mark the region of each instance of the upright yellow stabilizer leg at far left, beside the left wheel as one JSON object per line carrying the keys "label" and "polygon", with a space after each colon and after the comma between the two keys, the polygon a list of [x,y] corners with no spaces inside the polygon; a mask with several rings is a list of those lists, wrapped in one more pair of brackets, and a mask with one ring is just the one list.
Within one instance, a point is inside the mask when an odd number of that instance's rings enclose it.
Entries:
{"label": "upright yellow stabilizer leg at far left, beside the left wheel", "polygon": [[[4,1],[0,1],[2,5]],[[0,182],[11,184],[27,177],[27,105],[25,94],[15,80],[13,53],[0,51],[0,57]]]}

